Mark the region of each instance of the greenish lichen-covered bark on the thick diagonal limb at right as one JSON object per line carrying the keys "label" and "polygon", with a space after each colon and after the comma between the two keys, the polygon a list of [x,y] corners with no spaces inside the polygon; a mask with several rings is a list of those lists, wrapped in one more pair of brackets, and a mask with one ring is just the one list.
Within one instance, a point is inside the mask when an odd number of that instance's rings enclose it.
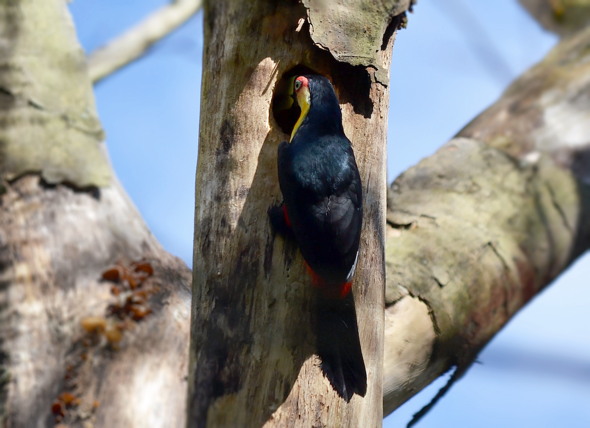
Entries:
{"label": "greenish lichen-covered bark on the thick diagonal limb at right", "polygon": [[[575,177],[549,156],[518,162],[472,139],[451,140],[395,180],[386,325],[405,326],[408,316],[421,321],[385,336],[385,414],[452,366],[464,373],[516,311],[569,265],[582,208]],[[408,297],[428,311],[400,311]],[[426,340],[432,330],[435,337]],[[419,353],[404,343],[410,336],[426,340]],[[405,371],[394,353],[411,362]]]}

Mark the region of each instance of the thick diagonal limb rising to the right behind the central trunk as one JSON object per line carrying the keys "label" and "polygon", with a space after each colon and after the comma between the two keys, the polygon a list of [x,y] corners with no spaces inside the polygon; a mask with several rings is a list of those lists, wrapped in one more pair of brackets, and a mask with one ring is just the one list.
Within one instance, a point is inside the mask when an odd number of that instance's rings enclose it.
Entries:
{"label": "thick diagonal limb rising to the right behind the central trunk", "polygon": [[389,189],[383,411],[456,380],[590,245],[590,28]]}

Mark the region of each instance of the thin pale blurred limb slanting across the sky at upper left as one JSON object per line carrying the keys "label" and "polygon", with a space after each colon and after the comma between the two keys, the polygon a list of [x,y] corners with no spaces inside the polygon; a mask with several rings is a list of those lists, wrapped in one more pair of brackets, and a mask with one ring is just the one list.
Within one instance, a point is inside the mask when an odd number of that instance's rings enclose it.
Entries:
{"label": "thin pale blurred limb slanting across the sky at upper left", "polygon": [[188,21],[202,3],[202,0],[175,0],[92,52],[88,57],[92,83],[140,58],[155,42]]}

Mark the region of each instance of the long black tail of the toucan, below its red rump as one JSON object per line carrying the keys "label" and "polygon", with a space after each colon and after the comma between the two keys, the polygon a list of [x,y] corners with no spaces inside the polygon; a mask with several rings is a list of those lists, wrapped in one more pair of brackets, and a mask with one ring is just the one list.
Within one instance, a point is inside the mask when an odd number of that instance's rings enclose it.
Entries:
{"label": "long black tail of the toucan, below its red rump", "polygon": [[319,289],[316,302],[317,354],[324,375],[346,401],[355,393],[364,397],[367,375],[352,292],[333,298]]}

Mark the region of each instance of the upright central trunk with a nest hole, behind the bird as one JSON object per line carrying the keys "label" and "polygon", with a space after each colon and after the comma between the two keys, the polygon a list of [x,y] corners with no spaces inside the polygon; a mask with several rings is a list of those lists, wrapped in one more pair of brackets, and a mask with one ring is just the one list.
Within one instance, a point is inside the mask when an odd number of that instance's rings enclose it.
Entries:
{"label": "upright central trunk with a nest hole, behind the bird", "polygon": [[[381,426],[387,85],[392,35],[409,2],[376,3],[205,4],[191,427]],[[277,146],[288,139],[273,94],[291,71],[332,80],[363,182],[353,293],[368,390],[349,403],[314,356],[303,259],[267,218],[281,200]]]}

